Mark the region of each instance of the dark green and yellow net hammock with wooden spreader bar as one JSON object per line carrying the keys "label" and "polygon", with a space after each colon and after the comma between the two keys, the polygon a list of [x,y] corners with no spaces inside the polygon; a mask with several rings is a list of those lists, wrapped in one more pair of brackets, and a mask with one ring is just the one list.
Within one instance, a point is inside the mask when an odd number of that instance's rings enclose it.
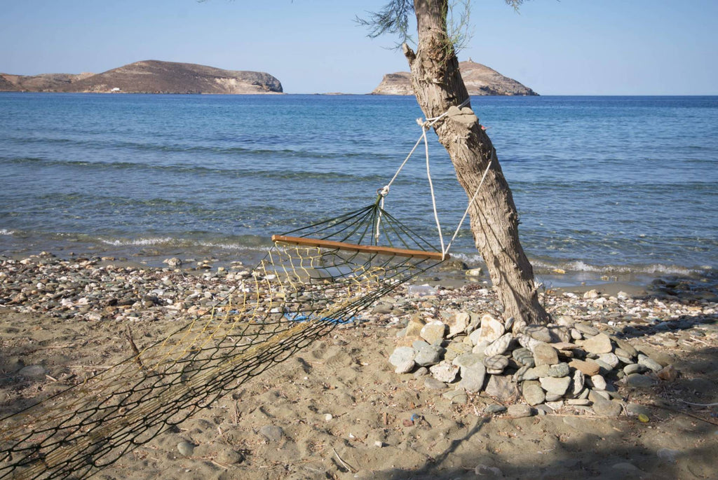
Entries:
{"label": "dark green and yellow net hammock with wooden spreader bar", "polygon": [[[374,204],[275,235],[252,276],[160,342],[0,420],[0,478],[82,478],[360,321],[444,255]],[[380,246],[381,245],[381,246]]]}

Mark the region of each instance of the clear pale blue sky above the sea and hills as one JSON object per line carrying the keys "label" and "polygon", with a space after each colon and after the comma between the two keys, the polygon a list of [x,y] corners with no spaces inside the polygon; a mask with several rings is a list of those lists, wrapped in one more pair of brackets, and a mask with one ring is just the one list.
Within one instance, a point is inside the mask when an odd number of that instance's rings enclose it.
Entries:
{"label": "clear pale blue sky above the sea and hills", "polygon": [[[383,0],[3,0],[0,72],[139,60],[269,72],[287,93],[368,93],[408,70],[354,18]],[[718,0],[473,0],[471,57],[544,95],[718,95]]]}

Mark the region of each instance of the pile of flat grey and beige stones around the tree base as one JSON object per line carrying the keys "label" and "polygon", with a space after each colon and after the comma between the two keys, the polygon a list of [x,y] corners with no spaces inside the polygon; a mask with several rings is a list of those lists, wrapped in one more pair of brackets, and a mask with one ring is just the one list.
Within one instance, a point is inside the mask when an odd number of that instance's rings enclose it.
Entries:
{"label": "pile of flat grey and beige stones around the tree base", "polygon": [[437,390],[454,386],[444,392],[454,403],[466,403],[467,393],[485,392],[503,402],[523,398],[538,413],[572,406],[616,416],[625,406],[617,392],[620,382],[646,388],[677,375],[665,356],[652,358],[590,322],[565,315],[547,326],[512,319],[503,324],[469,312],[447,322],[414,317],[399,337],[389,357],[396,373],[425,376],[424,385]]}

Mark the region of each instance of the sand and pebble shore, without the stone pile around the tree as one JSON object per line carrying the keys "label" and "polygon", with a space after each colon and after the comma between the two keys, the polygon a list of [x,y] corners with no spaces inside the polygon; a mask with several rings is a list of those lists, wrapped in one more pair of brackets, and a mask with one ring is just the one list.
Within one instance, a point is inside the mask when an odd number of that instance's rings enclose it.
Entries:
{"label": "sand and pebble shore, without the stone pile around the tree", "polygon": [[[128,334],[139,348],[164,338],[210,309],[251,265],[192,268],[47,253],[2,258],[0,416],[131,357]],[[337,327],[101,475],[469,479],[497,471],[522,478],[538,469],[541,478],[708,478],[718,454],[715,409],[676,400],[718,401],[718,291],[700,286],[665,283],[663,291],[638,296],[608,290],[587,296],[581,291],[588,287],[577,286],[544,297],[554,315],[586,319],[602,331],[638,329],[636,347],[658,352],[679,371],[657,390],[620,387],[628,410],[615,418],[570,405],[527,418],[487,413],[516,400],[497,403],[482,392],[454,403],[424,377],[397,375],[388,357],[417,313],[498,312],[493,293],[475,282],[439,288],[434,297],[400,288],[366,311],[362,323]],[[638,421],[638,412],[649,422]]]}

